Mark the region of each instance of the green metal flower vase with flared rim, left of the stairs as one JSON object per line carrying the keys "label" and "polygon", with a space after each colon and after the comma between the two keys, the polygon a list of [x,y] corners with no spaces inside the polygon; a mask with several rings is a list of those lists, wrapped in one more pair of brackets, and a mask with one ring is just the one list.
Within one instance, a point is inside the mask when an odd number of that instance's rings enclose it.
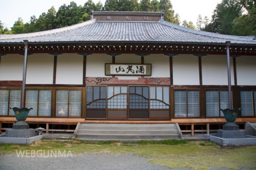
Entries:
{"label": "green metal flower vase with flared rim, left of the stairs", "polygon": [[[10,107],[11,108],[11,107]],[[18,108],[18,107],[13,107],[11,108],[14,112],[14,115],[17,119],[17,122],[12,125],[13,129],[29,129],[29,125],[25,122],[25,120],[28,117],[28,113],[31,109],[33,108]]]}

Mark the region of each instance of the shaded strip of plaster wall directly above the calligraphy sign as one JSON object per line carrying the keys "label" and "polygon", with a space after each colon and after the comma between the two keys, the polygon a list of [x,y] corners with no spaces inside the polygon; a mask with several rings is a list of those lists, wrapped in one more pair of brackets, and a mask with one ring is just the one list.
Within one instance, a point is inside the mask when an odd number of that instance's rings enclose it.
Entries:
{"label": "shaded strip of plaster wall directly above the calligraphy sign", "polygon": [[141,63],[141,57],[135,54],[121,54],[116,56],[116,63]]}

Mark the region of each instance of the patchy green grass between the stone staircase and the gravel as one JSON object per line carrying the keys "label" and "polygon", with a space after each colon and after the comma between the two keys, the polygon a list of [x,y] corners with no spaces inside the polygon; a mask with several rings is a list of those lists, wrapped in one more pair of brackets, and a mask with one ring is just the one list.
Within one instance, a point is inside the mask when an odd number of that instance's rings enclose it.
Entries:
{"label": "patchy green grass between the stone staircase and the gravel", "polygon": [[169,168],[245,169],[256,167],[256,146],[220,147],[209,141],[83,141],[43,139],[32,145],[0,144],[0,154],[15,150],[69,150],[72,154],[99,152],[108,154],[133,154],[148,159],[150,163]]}

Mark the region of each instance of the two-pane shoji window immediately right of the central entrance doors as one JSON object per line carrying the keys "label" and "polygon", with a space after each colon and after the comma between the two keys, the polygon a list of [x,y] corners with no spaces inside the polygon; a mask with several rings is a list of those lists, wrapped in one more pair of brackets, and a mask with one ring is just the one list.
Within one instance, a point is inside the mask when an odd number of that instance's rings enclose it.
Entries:
{"label": "two-pane shoji window immediately right of the central entrance doors", "polygon": [[199,92],[198,90],[174,91],[175,117],[199,117]]}

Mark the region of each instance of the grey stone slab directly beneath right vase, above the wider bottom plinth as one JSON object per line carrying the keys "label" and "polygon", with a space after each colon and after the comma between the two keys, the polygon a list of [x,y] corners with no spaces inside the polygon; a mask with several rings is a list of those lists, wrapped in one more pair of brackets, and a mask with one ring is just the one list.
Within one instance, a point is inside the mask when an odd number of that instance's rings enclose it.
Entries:
{"label": "grey stone slab directly beneath right vase, above the wider bottom plinth", "polygon": [[237,130],[237,131],[226,131],[226,130],[218,130],[217,136],[219,138],[225,139],[235,139],[235,138],[245,138],[245,130]]}

